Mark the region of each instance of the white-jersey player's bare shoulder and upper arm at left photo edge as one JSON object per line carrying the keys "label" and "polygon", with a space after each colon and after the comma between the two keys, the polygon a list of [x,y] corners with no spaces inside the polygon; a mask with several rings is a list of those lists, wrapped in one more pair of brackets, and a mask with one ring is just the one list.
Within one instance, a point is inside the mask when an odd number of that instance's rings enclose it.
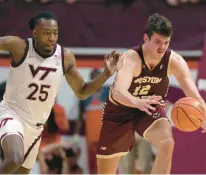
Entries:
{"label": "white-jersey player's bare shoulder and upper arm at left photo edge", "polygon": [[17,36],[0,37],[0,50],[11,53],[15,63],[21,61],[25,49],[26,41]]}

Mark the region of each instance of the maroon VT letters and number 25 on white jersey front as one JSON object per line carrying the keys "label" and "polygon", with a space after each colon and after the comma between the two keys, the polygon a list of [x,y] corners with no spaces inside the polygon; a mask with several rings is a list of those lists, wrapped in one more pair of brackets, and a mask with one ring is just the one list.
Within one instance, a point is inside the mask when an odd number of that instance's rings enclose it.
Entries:
{"label": "maroon VT letters and number 25 on white jersey front", "polygon": [[[29,68],[31,70],[32,76],[35,78],[35,76],[39,73],[39,72],[43,72],[42,76],[40,77],[39,80],[44,80],[50,72],[56,72],[57,69],[55,68],[48,68],[48,67],[37,67],[36,69],[34,68],[33,65],[29,64]],[[30,93],[30,95],[27,97],[28,100],[40,100],[41,102],[44,102],[47,100],[48,98],[48,90],[50,88],[50,85],[38,85],[36,83],[31,83],[28,86],[29,88],[32,88],[33,91]],[[39,95],[37,95],[37,93]]]}

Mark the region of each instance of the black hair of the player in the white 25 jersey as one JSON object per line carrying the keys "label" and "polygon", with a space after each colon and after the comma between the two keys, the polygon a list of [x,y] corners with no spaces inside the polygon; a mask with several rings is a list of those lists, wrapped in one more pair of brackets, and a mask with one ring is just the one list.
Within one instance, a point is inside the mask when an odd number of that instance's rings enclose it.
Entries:
{"label": "black hair of the player in the white 25 jersey", "polygon": [[41,12],[38,12],[35,16],[33,16],[29,20],[29,28],[31,30],[34,30],[36,24],[38,24],[40,19],[47,19],[47,20],[53,19],[53,20],[57,21],[56,16],[52,12],[41,11]]}

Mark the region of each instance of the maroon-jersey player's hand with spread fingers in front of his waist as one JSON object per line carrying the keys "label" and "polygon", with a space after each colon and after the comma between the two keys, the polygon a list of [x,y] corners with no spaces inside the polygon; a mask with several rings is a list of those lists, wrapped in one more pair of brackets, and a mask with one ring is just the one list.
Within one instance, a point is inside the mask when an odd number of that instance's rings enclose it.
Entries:
{"label": "maroon-jersey player's hand with spread fingers in front of his waist", "polygon": [[139,99],[137,107],[148,115],[152,115],[151,111],[156,110],[152,105],[159,105],[161,99],[161,96],[152,96],[149,99]]}

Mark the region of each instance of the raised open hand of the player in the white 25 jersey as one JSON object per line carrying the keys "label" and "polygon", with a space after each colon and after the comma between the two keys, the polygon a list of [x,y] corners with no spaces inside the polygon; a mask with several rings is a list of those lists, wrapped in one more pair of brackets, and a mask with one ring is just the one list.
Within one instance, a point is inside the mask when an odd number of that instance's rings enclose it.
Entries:
{"label": "raised open hand of the player in the white 25 jersey", "polygon": [[112,76],[117,71],[117,62],[120,54],[113,50],[110,54],[104,56],[104,71],[108,76]]}

